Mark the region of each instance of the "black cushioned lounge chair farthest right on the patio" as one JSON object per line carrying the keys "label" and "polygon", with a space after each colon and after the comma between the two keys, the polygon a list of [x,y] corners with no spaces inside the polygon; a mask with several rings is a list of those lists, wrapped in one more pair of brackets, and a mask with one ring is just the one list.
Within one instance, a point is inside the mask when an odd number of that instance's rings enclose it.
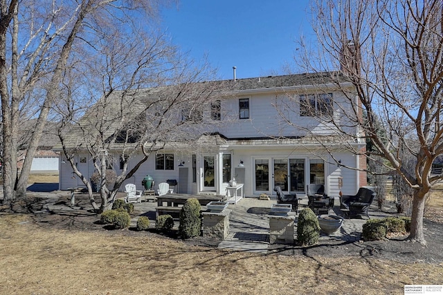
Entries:
{"label": "black cushioned lounge chair farthest right on the patio", "polygon": [[361,187],[355,196],[340,196],[340,208],[347,211],[347,218],[351,216],[368,216],[369,207],[375,198],[376,193],[372,189]]}

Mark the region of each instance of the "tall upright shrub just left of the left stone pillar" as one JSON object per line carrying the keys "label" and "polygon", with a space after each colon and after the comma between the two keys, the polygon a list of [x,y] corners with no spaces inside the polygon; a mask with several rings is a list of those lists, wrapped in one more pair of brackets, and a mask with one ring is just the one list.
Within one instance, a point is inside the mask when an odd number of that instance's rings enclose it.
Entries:
{"label": "tall upright shrub just left of the left stone pillar", "polygon": [[200,202],[196,198],[186,200],[180,211],[179,235],[181,238],[200,236]]}

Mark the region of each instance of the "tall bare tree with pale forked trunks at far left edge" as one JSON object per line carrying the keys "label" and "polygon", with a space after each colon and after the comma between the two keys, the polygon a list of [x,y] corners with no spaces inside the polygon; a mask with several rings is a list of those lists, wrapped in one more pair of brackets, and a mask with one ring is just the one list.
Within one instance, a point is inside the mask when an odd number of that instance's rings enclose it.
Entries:
{"label": "tall bare tree with pale forked trunks at far left edge", "polygon": [[[26,184],[51,107],[60,97],[64,71],[93,52],[109,28],[156,19],[156,0],[81,0],[0,2],[0,95],[3,120],[3,202],[25,196]],[[101,30],[103,29],[103,30]],[[108,30],[109,31],[109,30]],[[7,49],[8,48],[8,49]],[[80,55],[82,57],[80,57]],[[17,171],[18,126],[37,117]]]}

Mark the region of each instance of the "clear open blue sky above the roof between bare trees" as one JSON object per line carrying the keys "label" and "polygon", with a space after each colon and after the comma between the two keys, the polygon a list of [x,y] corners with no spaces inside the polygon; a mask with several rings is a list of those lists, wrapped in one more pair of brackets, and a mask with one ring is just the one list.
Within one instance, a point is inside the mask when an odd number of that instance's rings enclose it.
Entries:
{"label": "clear open blue sky above the roof between bare trees", "polygon": [[181,0],[163,11],[174,44],[208,55],[221,79],[282,74],[300,35],[311,34],[309,0]]}

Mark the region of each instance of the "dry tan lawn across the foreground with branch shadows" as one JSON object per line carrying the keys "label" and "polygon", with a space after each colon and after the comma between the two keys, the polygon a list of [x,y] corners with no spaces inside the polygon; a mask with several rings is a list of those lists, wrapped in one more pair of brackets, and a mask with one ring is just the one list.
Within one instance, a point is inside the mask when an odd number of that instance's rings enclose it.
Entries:
{"label": "dry tan lawn across the foreground with branch shadows", "polygon": [[28,218],[0,215],[0,294],[403,294],[442,283],[441,265],[260,256]]}

